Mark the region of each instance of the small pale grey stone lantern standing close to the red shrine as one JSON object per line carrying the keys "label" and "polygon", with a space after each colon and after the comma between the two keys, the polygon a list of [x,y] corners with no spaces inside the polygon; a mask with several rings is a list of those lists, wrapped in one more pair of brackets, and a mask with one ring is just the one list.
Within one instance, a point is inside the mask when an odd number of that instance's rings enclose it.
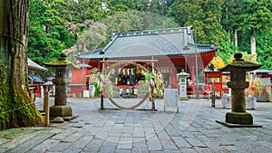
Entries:
{"label": "small pale grey stone lantern standing close to the red shrine", "polygon": [[187,96],[187,78],[189,77],[189,73],[182,71],[177,74],[180,78],[180,100],[189,100]]}

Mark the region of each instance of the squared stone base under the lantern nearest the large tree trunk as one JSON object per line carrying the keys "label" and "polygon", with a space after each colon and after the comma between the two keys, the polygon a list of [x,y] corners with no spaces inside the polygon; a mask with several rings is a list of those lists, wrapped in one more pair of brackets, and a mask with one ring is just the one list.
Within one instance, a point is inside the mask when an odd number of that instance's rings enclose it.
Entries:
{"label": "squared stone base under the lantern nearest the large tree trunk", "polygon": [[50,107],[50,118],[70,117],[70,116],[72,116],[72,108],[70,106],[52,106],[52,107]]}

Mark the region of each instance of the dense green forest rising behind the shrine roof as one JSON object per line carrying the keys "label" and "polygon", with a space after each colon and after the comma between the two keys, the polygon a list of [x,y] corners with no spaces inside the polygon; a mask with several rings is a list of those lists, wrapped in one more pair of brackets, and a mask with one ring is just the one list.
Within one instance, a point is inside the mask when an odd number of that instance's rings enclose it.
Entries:
{"label": "dense green forest rising behind the shrine roof", "polygon": [[272,70],[271,0],[31,0],[29,8],[28,57],[41,65],[102,48],[112,33],[190,26],[195,43],[219,48],[219,62],[242,52]]}

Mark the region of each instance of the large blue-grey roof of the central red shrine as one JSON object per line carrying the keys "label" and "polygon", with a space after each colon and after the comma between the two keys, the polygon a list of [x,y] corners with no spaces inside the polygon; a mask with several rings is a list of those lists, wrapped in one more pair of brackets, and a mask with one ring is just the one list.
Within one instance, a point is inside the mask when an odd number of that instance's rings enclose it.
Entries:
{"label": "large blue-grey roof of the central red shrine", "polygon": [[[151,56],[177,56],[216,51],[210,44],[196,44],[189,27],[114,33],[112,41],[100,50],[80,53],[78,58],[137,58]],[[104,53],[104,54],[102,54]]]}

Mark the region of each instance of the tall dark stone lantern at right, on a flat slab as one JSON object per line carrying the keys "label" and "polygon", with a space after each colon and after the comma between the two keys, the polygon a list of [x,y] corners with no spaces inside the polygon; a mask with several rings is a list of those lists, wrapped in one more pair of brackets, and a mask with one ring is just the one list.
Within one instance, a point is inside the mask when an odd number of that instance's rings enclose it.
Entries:
{"label": "tall dark stone lantern at right, on a flat slab", "polygon": [[[246,72],[260,68],[262,65],[254,62],[246,62],[242,59],[242,53],[234,55],[235,60],[227,66],[219,69],[221,72],[230,72],[230,81],[227,82],[231,88],[231,111],[226,114],[226,126],[230,124],[253,125],[253,118],[246,111],[246,92],[248,81]],[[218,121],[219,122],[219,121]],[[222,122],[220,122],[222,123]],[[223,122],[224,124],[224,122]]]}

